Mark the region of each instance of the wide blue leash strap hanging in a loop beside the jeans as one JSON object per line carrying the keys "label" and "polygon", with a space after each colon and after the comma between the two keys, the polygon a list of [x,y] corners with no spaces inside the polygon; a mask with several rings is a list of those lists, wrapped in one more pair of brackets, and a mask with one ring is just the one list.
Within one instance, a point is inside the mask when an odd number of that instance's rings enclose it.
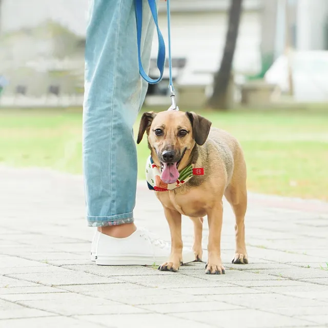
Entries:
{"label": "wide blue leash strap hanging in a loop beside the jeans", "polygon": [[163,36],[158,27],[158,17],[157,17],[157,7],[156,7],[156,0],[148,0],[148,4],[150,7],[150,11],[152,13],[154,23],[157,30],[157,37],[158,37],[158,54],[157,54],[157,68],[159,70],[159,77],[157,79],[153,79],[147,75],[142,66],[141,62],[141,30],[142,30],[142,2],[143,0],[135,0],[135,16],[137,22],[137,43],[138,43],[138,61],[139,61],[139,72],[141,77],[146,80],[149,84],[156,84],[158,83],[162,77],[165,68],[165,43]]}

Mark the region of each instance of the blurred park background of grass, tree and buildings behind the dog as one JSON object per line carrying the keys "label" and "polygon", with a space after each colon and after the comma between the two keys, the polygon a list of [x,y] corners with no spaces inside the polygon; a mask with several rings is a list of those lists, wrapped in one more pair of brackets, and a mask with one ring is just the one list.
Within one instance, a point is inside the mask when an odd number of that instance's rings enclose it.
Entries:
{"label": "blurred park background of grass, tree and buildings behind the dog", "polygon": [[[0,0],[0,165],[81,174],[87,10]],[[159,24],[167,40],[163,1]],[[172,0],[171,24],[178,105],[238,137],[249,189],[328,200],[328,2]],[[153,77],[156,56],[154,39]],[[168,78],[143,110],[170,106]],[[139,179],[147,155],[143,142]]]}

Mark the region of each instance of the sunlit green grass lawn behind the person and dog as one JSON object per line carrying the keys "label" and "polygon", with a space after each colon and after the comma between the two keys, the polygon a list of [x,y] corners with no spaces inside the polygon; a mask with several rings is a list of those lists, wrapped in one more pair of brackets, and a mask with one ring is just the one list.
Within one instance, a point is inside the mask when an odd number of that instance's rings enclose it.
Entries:
{"label": "sunlit green grass lawn behind the person and dog", "polygon": [[[202,115],[241,142],[250,191],[328,200],[328,111]],[[137,149],[138,177],[144,179],[146,138]],[[0,164],[80,174],[81,112],[0,110]]]}

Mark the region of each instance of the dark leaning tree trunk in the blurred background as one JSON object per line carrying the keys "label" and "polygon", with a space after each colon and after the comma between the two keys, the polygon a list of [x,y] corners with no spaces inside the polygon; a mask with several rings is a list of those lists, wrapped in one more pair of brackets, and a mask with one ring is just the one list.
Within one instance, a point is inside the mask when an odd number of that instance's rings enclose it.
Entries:
{"label": "dark leaning tree trunk in the blurred background", "polygon": [[228,109],[228,86],[231,79],[232,61],[236,49],[240,23],[242,0],[231,0],[229,25],[221,65],[214,77],[213,95],[209,106],[215,109]]}

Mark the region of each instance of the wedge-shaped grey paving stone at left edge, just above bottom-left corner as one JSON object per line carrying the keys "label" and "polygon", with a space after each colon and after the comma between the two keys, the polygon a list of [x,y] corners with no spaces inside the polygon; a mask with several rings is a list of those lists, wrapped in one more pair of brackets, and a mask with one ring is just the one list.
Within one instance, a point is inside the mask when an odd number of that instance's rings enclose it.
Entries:
{"label": "wedge-shaped grey paving stone at left edge, just above bottom-left corner", "polygon": [[0,300],[0,326],[3,319],[31,318],[49,316],[51,313],[28,309],[22,305]]}

